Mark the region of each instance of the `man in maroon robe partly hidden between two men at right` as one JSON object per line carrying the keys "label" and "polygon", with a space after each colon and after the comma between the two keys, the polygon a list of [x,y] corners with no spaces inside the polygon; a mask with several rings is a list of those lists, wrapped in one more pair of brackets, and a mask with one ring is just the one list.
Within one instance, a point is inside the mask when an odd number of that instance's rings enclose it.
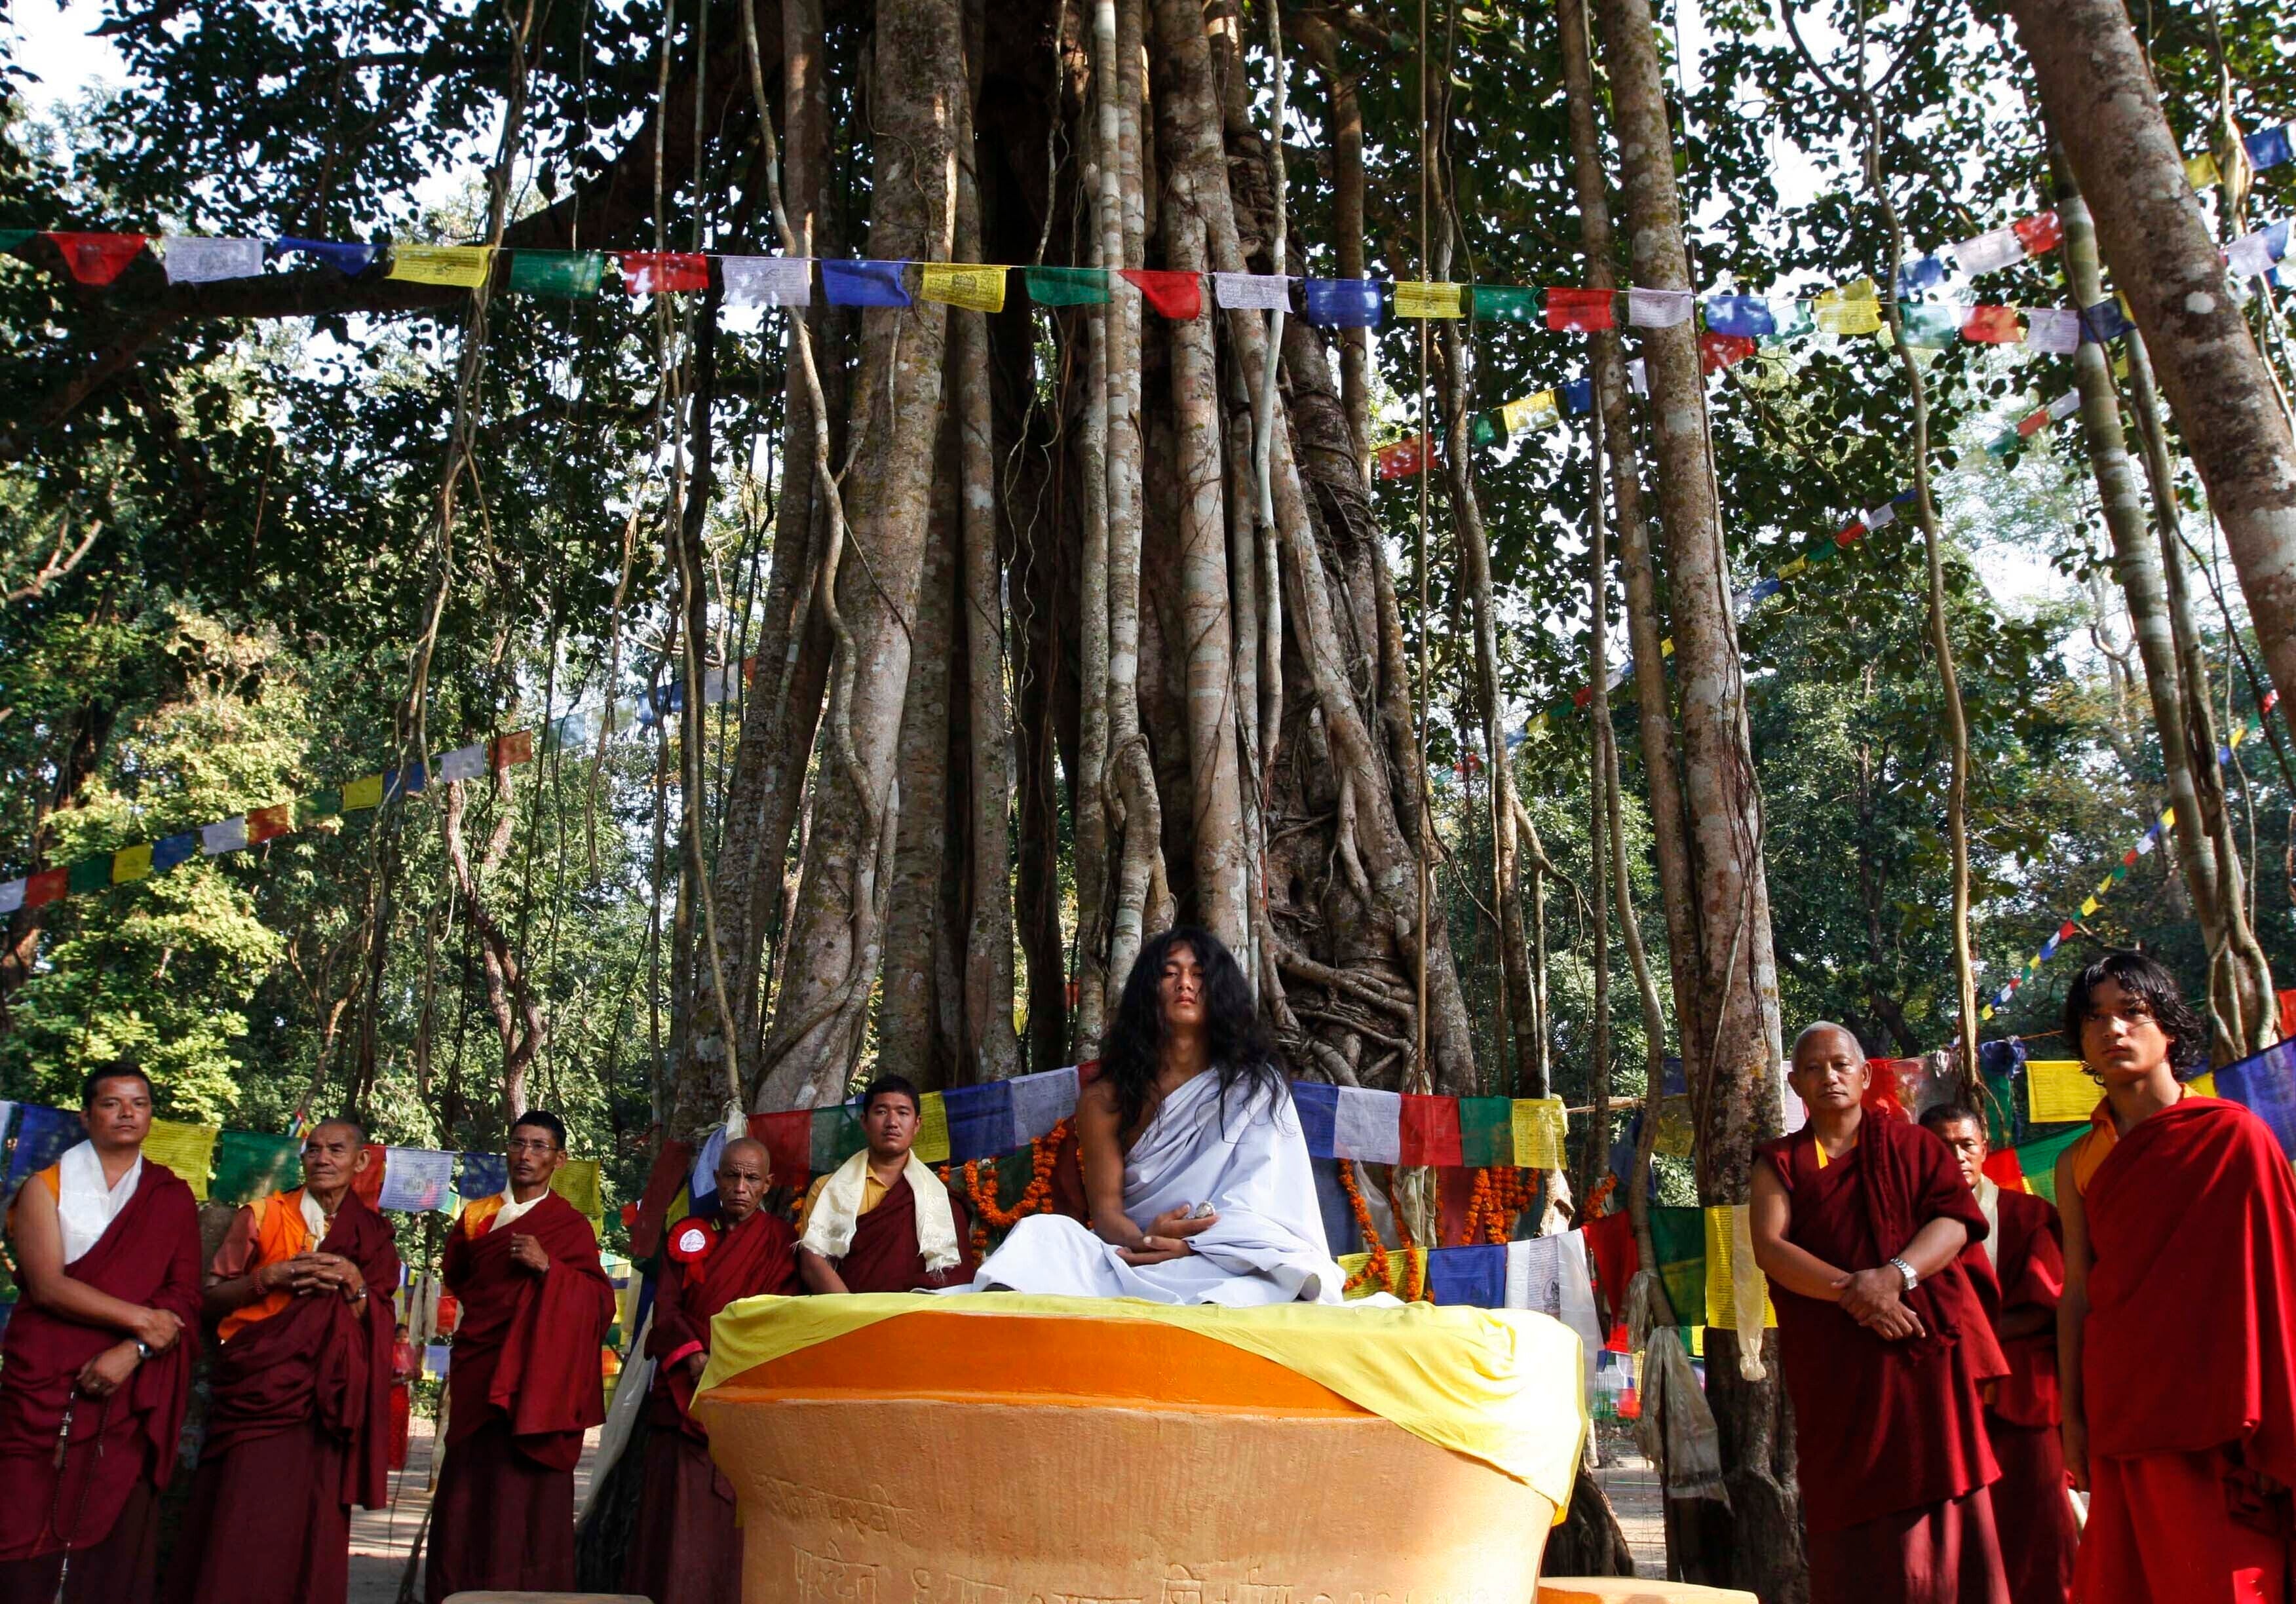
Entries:
{"label": "man in maroon robe partly hidden between two men at right", "polygon": [[[1993,1276],[1977,1278],[2009,1375],[1986,1391],[1986,1441],[2002,1478],[1993,1482],[1993,1526],[2011,1604],[2064,1604],[2073,1593],[2080,1521],[2066,1496],[2057,1434],[2057,1299],[2064,1297],[2064,1251],[2057,1209],[2030,1191],[2004,1191],[1986,1175],[1986,1120],[1968,1104],[1922,1111],[1961,1166],[1991,1225],[1984,1255]],[[1975,1269],[1975,1264],[1972,1264]]]}

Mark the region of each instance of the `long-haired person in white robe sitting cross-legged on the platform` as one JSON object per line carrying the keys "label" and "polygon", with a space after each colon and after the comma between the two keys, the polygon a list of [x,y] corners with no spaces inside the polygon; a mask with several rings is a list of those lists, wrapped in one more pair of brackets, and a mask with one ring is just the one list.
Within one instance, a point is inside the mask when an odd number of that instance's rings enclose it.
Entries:
{"label": "long-haired person in white robe sitting cross-legged on the platform", "polygon": [[1157,1303],[1339,1303],[1290,1081],[1226,945],[1141,948],[1100,1079],[1077,1095],[1091,1228],[1033,1214],[974,1292]]}

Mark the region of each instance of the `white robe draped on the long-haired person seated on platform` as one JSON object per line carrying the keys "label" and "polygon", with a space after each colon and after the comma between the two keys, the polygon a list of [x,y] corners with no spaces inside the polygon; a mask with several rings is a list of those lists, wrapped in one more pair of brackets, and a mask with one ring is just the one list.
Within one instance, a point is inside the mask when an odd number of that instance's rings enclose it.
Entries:
{"label": "white robe draped on the long-haired person seated on platform", "polygon": [[1203,1202],[1219,1221],[1189,1237],[1194,1253],[1162,1264],[1127,1264],[1086,1225],[1063,1214],[1031,1214],[980,1264],[971,1285],[951,1292],[1228,1308],[1341,1301],[1345,1278],[1322,1232],[1316,1175],[1288,1085],[1274,1097],[1235,1088],[1221,1099],[1219,1072],[1205,1069],[1148,1120],[1125,1157],[1125,1214],[1146,1230],[1169,1209]]}

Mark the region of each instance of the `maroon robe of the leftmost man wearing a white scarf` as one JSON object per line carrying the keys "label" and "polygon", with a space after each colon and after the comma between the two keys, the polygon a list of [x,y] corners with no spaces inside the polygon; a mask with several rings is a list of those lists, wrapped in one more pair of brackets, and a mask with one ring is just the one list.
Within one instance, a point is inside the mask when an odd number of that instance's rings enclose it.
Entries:
{"label": "maroon robe of the leftmost man wearing a white scarf", "polygon": [[[32,1179],[30,1184],[39,1184]],[[158,1563],[158,1498],[200,1352],[200,1214],[191,1186],[142,1161],[135,1196],[80,1257],[73,1280],[165,1308],[184,1336],[110,1400],[73,1400],[80,1365],[122,1333],[16,1306],[0,1342],[0,1604],[51,1604],[69,1554],[69,1599],[145,1604]],[[64,1466],[57,1430],[71,1409]]]}

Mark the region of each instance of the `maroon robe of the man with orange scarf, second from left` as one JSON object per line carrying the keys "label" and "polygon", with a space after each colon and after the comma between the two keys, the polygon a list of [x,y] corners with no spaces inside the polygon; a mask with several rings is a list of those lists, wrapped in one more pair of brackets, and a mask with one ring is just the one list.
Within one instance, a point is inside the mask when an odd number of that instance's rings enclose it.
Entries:
{"label": "maroon robe of the man with orange scarf, second from left", "polygon": [[[296,1207],[287,1193],[271,1207]],[[262,1260],[225,1244],[218,1276]],[[390,1299],[400,1253],[390,1225],[347,1193],[317,1253],[358,1267],[367,1301],[324,1292],[225,1340],[207,1379],[214,1404],[184,1537],[168,1565],[177,1604],[298,1599],[340,1604],[351,1588],[351,1503],[390,1503]],[[262,1542],[246,1535],[259,1531]]]}

